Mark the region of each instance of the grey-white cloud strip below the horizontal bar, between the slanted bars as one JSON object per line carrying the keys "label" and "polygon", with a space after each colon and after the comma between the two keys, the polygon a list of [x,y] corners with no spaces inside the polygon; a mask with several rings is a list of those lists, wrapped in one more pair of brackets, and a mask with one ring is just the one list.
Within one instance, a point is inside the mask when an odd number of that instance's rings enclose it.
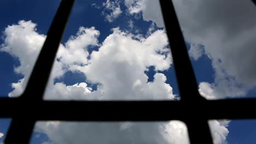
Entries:
{"label": "grey-white cloud strip below the horizontal bar, between the slanted bars", "polygon": [[[46,132],[53,140],[52,143],[189,143],[187,128],[179,121],[79,124],[39,122],[37,125],[38,131]],[[40,129],[45,127],[47,131]]]}

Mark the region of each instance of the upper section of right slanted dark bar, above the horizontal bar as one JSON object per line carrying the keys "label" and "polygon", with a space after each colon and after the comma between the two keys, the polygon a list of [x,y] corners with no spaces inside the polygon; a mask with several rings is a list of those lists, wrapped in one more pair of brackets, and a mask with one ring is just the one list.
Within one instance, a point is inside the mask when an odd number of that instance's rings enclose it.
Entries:
{"label": "upper section of right slanted dark bar, above the horizontal bar", "polygon": [[[190,63],[185,41],[174,10],[172,1],[160,0],[162,16],[171,46],[175,74],[178,81],[181,100],[204,100],[199,95],[194,71]],[[193,97],[191,97],[193,96]]]}

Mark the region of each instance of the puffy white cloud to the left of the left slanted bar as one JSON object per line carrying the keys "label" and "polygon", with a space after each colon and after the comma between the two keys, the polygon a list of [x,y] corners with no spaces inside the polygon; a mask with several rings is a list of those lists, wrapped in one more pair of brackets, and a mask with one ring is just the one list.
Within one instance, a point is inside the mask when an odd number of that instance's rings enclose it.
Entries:
{"label": "puffy white cloud to the left of the left slanted bar", "polygon": [[44,43],[46,36],[38,34],[36,30],[36,23],[31,21],[19,21],[18,25],[5,28],[4,42],[0,45],[0,51],[8,52],[11,56],[18,58],[20,65],[15,67],[14,71],[24,75],[24,79],[11,84],[14,91],[9,93],[9,97],[15,97],[24,91],[39,48]]}

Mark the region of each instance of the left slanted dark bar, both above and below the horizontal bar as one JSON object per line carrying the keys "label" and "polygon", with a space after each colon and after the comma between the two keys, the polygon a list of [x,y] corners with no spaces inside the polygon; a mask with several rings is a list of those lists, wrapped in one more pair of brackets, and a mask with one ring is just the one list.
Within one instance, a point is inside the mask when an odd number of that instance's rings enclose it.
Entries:
{"label": "left slanted dark bar, both above and below the horizontal bar", "polygon": [[[47,38],[33,68],[26,90],[19,98],[20,103],[26,107],[30,107],[28,110],[31,111],[24,111],[24,113],[33,115],[33,109],[36,108],[37,103],[42,101],[44,89],[48,82],[51,67],[53,66],[73,3],[74,0],[62,0],[51,23]],[[21,112],[18,116],[12,117],[13,119],[5,138],[5,143],[29,143],[36,119],[27,119],[25,116],[22,116]]]}

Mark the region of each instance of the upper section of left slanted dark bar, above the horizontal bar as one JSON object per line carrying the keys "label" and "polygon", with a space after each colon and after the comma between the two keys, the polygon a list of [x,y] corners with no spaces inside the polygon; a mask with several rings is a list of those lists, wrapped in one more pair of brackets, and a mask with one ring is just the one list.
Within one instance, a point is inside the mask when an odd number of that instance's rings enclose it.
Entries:
{"label": "upper section of left slanted dark bar, above the horizontal bar", "polygon": [[[53,66],[73,3],[74,0],[62,0],[54,20],[51,23],[37,62],[34,65],[25,92],[20,98],[27,100],[42,100],[44,89],[51,73],[51,67]],[[34,95],[34,93],[37,93],[37,95]]]}

